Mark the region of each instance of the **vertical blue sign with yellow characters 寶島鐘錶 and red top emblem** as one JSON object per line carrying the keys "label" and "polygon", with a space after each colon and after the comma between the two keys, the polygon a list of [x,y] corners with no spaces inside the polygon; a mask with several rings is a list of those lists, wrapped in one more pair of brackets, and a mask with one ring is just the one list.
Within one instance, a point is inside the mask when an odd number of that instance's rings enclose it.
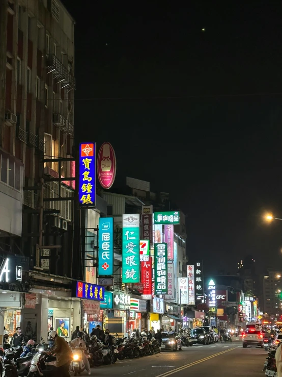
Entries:
{"label": "vertical blue sign with yellow characters \u5bf6\u5cf6\u9418\u9336 and red top emblem", "polygon": [[78,199],[81,207],[95,206],[96,144],[79,144]]}

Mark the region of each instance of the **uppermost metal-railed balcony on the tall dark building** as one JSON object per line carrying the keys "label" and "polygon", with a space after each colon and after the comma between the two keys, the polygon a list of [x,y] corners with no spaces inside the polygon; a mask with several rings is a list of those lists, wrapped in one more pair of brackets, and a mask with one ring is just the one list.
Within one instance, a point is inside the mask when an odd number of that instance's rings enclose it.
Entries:
{"label": "uppermost metal-railed balcony on the tall dark building", "polygon": [[53,73],[54,79],[61,83],[61,88],[67,86],[68,90],[75,90],[75,78],[54,54],[46,55],[47,73]]}

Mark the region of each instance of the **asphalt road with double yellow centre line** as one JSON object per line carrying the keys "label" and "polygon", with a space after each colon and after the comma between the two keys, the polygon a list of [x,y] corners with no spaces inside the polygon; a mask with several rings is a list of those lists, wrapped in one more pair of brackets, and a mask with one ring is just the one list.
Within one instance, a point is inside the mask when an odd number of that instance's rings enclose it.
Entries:
{"label": "asphalt road with double yellow centre line", "polygon": [[[92,375],[108,377],[186,377],[199,374],[209,377],[264,376],[263,363],[267,352],[261,348],[242,348],[242,342],[194,345],[182,351],[162,351],[160,354],[139,359],[117,361],[92,369]],[[81,373],[86,375],[86,373]]]}

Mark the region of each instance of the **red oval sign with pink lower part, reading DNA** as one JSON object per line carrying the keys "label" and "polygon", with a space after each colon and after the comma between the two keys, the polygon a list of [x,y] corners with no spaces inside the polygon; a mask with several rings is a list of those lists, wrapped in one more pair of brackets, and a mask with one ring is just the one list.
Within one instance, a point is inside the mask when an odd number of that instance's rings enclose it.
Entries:
{"label": "red oval sign with pink lower part, reading DNA", "polygon": [[102,144],[97,159],[98,179],[104,189],[109,189],[115,181],[117,160],[114,148],[110,143]]}

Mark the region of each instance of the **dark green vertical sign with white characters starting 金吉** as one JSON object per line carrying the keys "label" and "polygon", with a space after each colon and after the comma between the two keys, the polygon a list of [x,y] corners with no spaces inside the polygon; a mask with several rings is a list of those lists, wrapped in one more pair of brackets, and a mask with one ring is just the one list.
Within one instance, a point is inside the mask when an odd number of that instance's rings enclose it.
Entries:
{"label": "dark green vertical sign with white characters starting \u91d1\u5409", "polygon": [[167,243],[155,243],[155,294],[167,294]]}

